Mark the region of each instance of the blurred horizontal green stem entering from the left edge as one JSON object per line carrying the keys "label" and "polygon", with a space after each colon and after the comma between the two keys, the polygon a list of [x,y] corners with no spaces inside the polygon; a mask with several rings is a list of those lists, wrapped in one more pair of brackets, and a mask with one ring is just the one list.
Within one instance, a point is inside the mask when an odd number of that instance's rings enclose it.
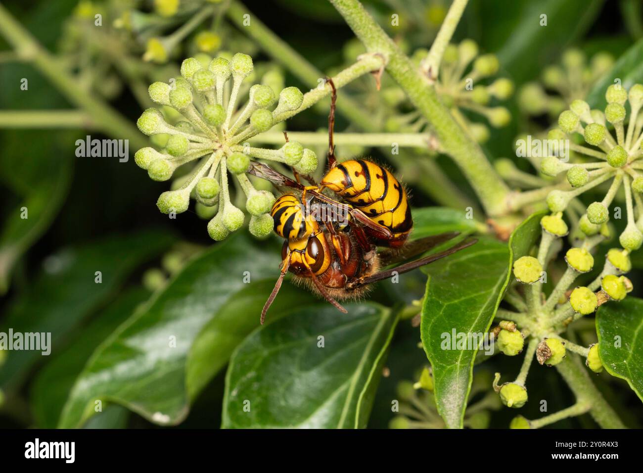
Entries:
{"label": "blurred horizontal green stem entering from the left edge", "polygon": [[95,128],[82,110],[2,110],[0,128]]}

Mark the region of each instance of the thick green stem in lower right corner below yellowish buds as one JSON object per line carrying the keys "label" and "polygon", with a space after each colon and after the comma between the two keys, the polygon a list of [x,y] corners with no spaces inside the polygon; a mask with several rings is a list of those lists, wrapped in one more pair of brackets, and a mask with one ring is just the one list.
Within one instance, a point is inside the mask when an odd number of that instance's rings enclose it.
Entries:
{"label": "thick green stem in lower right corner below yellowish buds", "polygon": [[573,355],[565,357],[562,362],[556,365],[556,369],[572,389],[576,396],[576,402],[590,404],[590,414],[603,429],[625,428],[619,416],[593,385],[587,370],[581,364],[579,358]]}

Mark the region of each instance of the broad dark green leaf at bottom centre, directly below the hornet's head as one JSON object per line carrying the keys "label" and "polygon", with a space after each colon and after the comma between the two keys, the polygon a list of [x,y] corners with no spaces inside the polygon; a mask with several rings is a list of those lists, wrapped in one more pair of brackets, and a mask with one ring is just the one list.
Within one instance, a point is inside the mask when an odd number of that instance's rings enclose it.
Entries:
{"label": "broad dark green leaf at bottom centre, directly below the hornet's head", "polygon": [[365,427],[397,312],[345,307],[296,309],[244,340],[228,367],[222,427]]}

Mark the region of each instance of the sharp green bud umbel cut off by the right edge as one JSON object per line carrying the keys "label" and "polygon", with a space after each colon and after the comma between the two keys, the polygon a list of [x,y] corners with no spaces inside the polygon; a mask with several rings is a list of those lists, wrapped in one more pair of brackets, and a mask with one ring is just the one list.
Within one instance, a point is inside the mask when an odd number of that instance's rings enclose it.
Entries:
{"label": "sharp green bud umbel cut off by the right edge", "polygon": [[[574,152],[586,159],[574,164],[554,156],[543,158],[543,174],[557,176],[566,171],[567,180],[574,187],[573,190],[552,190],[547,196],[547,205],[552,212],[562,212],[572,199],[588,190],[595,192],[602,185],[601,189],[606,189],[604,198],[588,205],[577,227],[586,236],[608,234],[610,206],[622,187],[628,223],[619,242],[626,250],[634,251],[643,244],[643,176],[639,175],[643,169],[643,133],[636,125],[643,108],[643,85],[635,84],[628,91],[620,84],[612,84],[605,98],[608,104],[604,111],[590,110],[583,100],[574,100],[569,109],[560,114],[559,129],[554,134],[570,140]],[[614,133],[608,131],[608,126],[613,127]],[[581,136],[585,144],[573,144],[574,138]]]}

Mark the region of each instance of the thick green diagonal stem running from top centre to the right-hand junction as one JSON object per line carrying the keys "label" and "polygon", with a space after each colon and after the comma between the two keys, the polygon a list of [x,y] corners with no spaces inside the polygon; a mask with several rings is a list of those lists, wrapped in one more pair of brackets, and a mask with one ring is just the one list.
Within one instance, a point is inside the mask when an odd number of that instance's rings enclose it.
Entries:
{"label": "thick green diagonal stem running from top centre to the right-hand junction", "polygon": [[507,213],[509,188],[482,153],[440,102],[428,79],[413,66],[357,0],[331,0],[368,51],[388,59],[386,70],[435,130],[440,145],[453,158],[491,216]]}

